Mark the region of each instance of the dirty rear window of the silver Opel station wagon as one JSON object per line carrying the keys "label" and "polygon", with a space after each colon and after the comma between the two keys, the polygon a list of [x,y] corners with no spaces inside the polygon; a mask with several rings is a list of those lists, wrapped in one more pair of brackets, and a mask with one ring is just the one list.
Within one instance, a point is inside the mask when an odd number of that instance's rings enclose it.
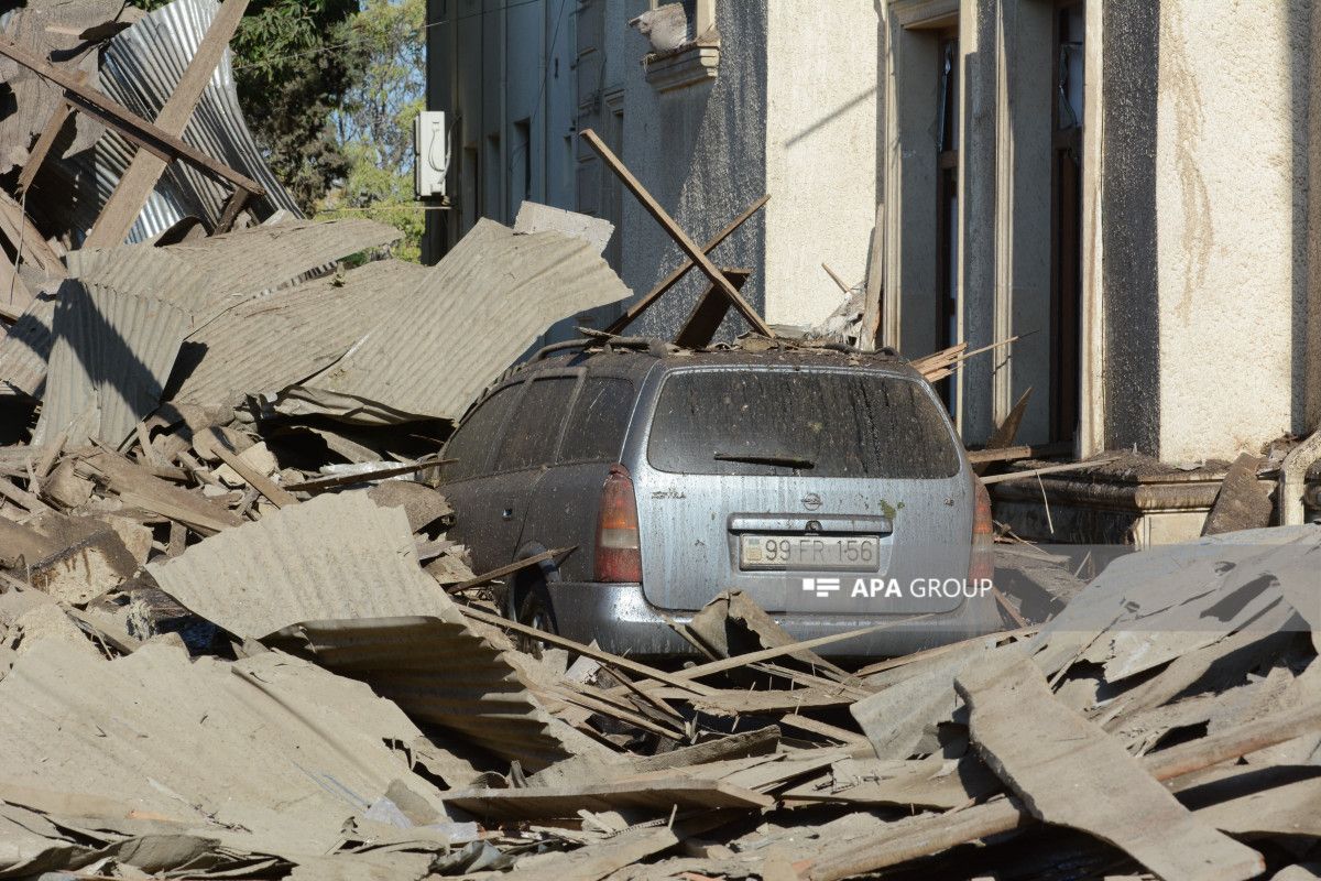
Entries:
{"label": "dirty rear window of the silver Opel station wagon", "polygon": [[696,474],[922,479],[959,470],[945,420],[917,382],[810,370],[672,374],[647,460]]}

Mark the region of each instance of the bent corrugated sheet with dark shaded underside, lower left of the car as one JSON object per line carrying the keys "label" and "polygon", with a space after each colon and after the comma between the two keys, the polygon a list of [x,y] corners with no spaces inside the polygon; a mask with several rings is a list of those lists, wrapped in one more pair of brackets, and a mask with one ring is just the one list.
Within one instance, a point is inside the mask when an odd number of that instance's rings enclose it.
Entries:
{"label": "bent corrugated sheet with dark shaded underside, lower left of the car", "polygon": [[403,509],[376,507],[363,493],[284,507],[148,571],[234,634],[285,630],[276,638],[284,643],[305,634],[320,663],[498,756],[542,767],[590,744],[542,708],[421,571]]}

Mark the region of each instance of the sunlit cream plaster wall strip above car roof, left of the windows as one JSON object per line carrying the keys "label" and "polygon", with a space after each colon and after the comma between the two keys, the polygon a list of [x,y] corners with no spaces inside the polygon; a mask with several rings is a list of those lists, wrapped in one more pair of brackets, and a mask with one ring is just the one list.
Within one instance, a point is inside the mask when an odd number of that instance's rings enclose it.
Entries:
{"label": "sunlit cream plaster wall strip above car roof, left of the windows", "polygon": [[[727,0],[728,1],[728,0]],[[807,325],[867,271],[876,219],[877,11],[771,3],[766,36],[766,320]]]}

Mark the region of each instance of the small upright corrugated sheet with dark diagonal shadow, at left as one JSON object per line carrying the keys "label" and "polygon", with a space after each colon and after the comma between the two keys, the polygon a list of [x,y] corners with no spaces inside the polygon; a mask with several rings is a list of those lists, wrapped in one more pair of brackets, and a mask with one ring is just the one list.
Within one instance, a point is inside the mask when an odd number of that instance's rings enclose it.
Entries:
{"label": "small upright corrugated sheet with dark diagonal shadow, at left", "polygon": [[119,446],[160,403],[189,316],[178,306],[103,285],[65,285],[33,444],[67,429],[67,442]]}

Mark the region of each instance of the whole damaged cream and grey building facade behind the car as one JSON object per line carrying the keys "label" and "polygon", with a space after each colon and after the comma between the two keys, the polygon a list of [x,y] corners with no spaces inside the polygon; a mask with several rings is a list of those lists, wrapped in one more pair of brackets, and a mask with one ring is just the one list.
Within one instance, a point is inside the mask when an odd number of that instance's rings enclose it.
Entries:
{"label": "whole damaged cream and grey building facade behind the car", "polygon": [[1020,440],[1083,456],[1231,458],[1321,419],[1313,3],[697,0],[696,41],[643,62],[651,5],[432,1],[437,248],[540,199],[609,218],[650,288],[679,258],[593,128],[696,239],[770,193],[716,255],[771,322],[835,306],[826,263],[877,267],[880,342],[910,357],[1017,335],[946,390],[970,444],[1028,388]]}

